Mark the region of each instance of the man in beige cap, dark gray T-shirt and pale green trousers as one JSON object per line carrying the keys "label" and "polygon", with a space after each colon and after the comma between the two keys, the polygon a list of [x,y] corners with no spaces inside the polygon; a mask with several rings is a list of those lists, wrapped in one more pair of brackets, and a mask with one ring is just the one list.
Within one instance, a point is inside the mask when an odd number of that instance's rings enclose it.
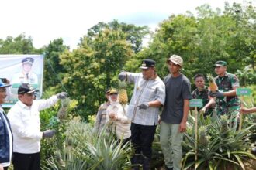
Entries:
{"label": "man in beige cap, dark gray T-shirt and pale green trousers", "polygon": [[164,78],[166,99],[161,114],[160,143],[167,169],[179,170],[182,165],[182,139],[186,131],[189,100],[192,98],[189,79],[183,75],[183,59],[172,55],[167,59],[170,74]]}

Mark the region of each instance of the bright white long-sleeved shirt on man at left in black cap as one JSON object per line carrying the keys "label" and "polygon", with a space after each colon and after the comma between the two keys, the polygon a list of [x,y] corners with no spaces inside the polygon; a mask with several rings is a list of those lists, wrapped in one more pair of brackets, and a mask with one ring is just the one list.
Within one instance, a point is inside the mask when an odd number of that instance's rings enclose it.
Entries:
{"label": "bright white long-sleeved shirt on man at left in black cap", "polygon": [[13,134],[13,152],[33,154],[40,152],[40,110],[46,109],[57,103],[54,95],[47,100],[33,100],[31,107],[20,100],[9,110],[9,118]]}

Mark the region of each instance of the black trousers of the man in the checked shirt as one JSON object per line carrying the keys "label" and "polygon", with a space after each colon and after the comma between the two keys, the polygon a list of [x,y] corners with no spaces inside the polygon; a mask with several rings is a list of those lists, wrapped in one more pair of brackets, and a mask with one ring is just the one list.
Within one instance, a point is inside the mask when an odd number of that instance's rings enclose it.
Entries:
{"label": "black trousers of the man in the checked shirt", "polygon": [[146,126],[132,123],[130,130],[132,132],[132,144],[135,149],[135,155],[141,153],[147,157],[152,157],[152,143],[157,125]]}

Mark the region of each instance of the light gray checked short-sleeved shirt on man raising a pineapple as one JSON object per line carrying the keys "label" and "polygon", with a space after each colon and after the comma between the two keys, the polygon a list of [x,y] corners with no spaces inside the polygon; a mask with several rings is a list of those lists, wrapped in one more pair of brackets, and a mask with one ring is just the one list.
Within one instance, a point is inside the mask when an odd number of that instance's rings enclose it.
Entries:
{"label": "light gray checked short-sleeved shirt on man raising a pineapple", "polygon": [[148,107],[146,110],[139,110],[137,106],[154,100],[164,104],[165,86],[163,81],[158,76],[154,80],[145,80],[142,73],[126,73],[128,82],[134,83],[133,97],[130,100],[127,117],[135,124],[158,124],[158,107]]}

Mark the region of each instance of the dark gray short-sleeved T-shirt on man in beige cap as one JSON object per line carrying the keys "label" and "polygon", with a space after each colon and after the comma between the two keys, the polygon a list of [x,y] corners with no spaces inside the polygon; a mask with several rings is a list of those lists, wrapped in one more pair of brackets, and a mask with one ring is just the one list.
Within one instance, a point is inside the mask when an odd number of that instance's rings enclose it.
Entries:
{"label": "dark gray short-sleeved T-shirt on man in beige cap", "polygon": [[166,98],[161,121],[168,124],[180,124],[183,117],[184,100],[190,100],[191,85],[189,79],[181,74],[178,77],[168,75],[164,78]]}

